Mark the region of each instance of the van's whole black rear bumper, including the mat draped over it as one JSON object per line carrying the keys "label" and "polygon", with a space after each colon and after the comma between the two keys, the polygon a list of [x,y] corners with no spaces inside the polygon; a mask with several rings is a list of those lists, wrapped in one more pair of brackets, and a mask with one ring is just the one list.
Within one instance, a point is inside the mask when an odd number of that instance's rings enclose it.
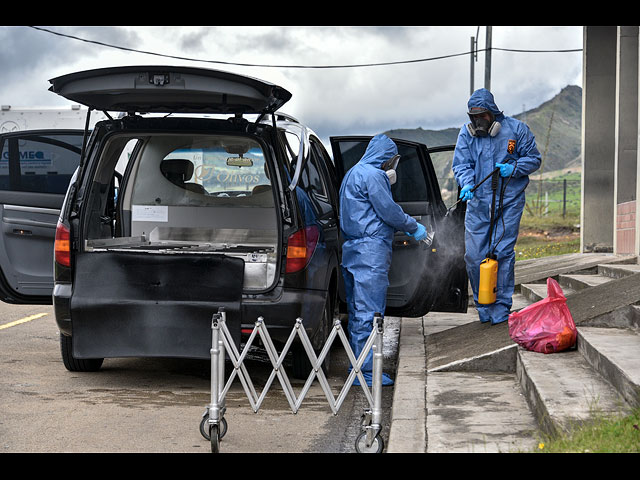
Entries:
{"label": "van's whole black rear bumper, including the mat draped over it", "polygon": [[[61,333],[73,335],[74,357],[210,358],[211,318],[221,306],[238,346],[241,329],[252,329],[258,317],[263,317],[275,342],[287,340],[297,318],[302,318],[307,334],[315,340],[326,291],[279,286],[269,295],[243,299],[238,285],[244,271],[241,261],[198,264],[192,266],[191,275],[176,275],[174,269],[173,275],[166,276],[157,273],[158,257],[135,257],[117,255],[109,260],[103,254],[87,256],[87,261],[78,262],[84,264],[76,270],[75,285],[55,285],[56,322]],[[94,259],[100,263],[95,265]],[[184,265],[181,256],[176,268],[188,273]],[[160,271],[172,271],[171,265],[161,267]],[[109,276],[90,274],[105,268],[110,270]],[[207,281],[203,272],[211,269],[224,270],[225,275],[215,276],[215,282]]]}

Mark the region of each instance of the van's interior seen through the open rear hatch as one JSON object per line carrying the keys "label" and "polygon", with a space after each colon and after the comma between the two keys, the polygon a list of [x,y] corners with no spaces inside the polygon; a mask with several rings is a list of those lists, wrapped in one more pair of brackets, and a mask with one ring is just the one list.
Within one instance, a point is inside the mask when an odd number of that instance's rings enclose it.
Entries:
{"label": "van's interior seen through the open rear hatch", "polygon": [[246,136],[114,135],[93,173],[84,251],[239,257],[243,290],[265,290],[278,250],[270,178]]}

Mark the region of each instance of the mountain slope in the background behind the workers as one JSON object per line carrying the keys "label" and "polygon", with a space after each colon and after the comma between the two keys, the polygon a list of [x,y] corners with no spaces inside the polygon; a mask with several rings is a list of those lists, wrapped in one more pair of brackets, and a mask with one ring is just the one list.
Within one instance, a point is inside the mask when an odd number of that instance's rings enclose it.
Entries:
{"label": "mountain slope in the background behind the workers", "polygon": [[[580,168],[582,129],[582,88],[569,85],[551,100],[517,115],[536,137],[538,150],[542,154],[542,166],[537,173],[564,168]],[[444,130],[395,129],[385,132],[389,137],[424,143],[427,146],[453,145],[460,127]],[[436,160],[434,168],[438,177],[451,173],[451,159]]]}

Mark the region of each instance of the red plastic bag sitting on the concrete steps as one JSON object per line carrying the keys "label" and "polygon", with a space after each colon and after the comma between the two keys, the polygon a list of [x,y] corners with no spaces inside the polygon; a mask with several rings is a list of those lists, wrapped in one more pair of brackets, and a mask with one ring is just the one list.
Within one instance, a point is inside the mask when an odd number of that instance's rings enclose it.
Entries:
{"label": "red plastic bag sitting on the concrete steps", "polygon": [[558,282],[547,278],[547,298],[509,315],[509,336],[540,353],[561,352],[576,343],[578,332]]}

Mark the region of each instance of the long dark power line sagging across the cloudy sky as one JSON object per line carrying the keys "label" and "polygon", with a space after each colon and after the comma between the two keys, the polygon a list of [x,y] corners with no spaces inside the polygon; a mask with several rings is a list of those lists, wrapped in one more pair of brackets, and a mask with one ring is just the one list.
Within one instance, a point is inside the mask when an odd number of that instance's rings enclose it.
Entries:
{"label": "long dark power line sagging across the cloudy sky", "polygon": [[[34,30],[39,30],[41,32],[50,33],[52,35],[57,35],[59,37],[69,38],[72,40],[77,40],[80,42],[91,43],[94,45],[100,45],[102,47],[114,48],[117,50],[123,50],[126,52],[132,53],[141,53],[144,55],[153,55],[156,57],[164,57],[164,58],[172,58],[174,60],[186,60],[190,62],[204,62],[204,63],[217,63],[221,65],[234,65],[239,67],[262,67],[262,68],[308,68],[308,69],[330,69],[330,68],[360,68],[360,67],[379,67],[379,66],[388,66],[388,65],[402,65],[409,63],[421,63],[421,62],[430,62],[434,60],[442,60],[445,58],[454,58],[461,57],[463,55],[469,55],[471,52],[463,52],[463,53],[454,53],[450,55],[440,55],[437,57],[429,57],[429,58],[417,58],[413,60],[398,60],[393,62],[378,62],[378,63],[358,63],[358,64],[346,64],[346,65],[274,65],[274,64],[261,64],[261,63],[240,63],[240,62],[225,62],[223,60],[203,60],[200,58],[192,58],[192,57],[184,57],[180,55],[167,55],[164,53],[157,52],[149,52],[145,50],[137,50],[134,48],[122,47],[119,45],[112,45],[109,43],[99,42],[97,40],[89,40],[86,38],[77,37],[75,35],[69,35],[60,32],[54,32],[53,30],[49,30],[42,27],[34,27],[29,26],[29,28],[33,28]],[[476,52],[483,52],[487,49],[475,50]],[[491,50],[501,50],[504,52],[518,52],[518,53],[568,53],[568,52],[581,52],[581,48],[577,49],[567,49],[567,50],[518,50],[518,49],[509,49],[509,48],[497,48],[492,47]]]}

